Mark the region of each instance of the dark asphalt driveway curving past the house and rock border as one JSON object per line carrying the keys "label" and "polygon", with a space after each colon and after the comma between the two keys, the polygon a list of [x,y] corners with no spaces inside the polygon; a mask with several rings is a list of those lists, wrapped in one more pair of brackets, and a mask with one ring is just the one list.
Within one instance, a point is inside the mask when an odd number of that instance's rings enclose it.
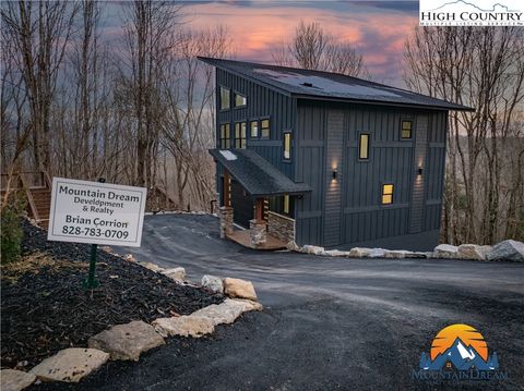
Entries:
{"label": "dark asphalt driveway curving past the house and rock border", "polygon": [[[210,338],[171,339],[139,363],[110,363],[78,386],[53,390],[524,388],[522,264],[254,252],[219,240],[216,218],[192,215],[146,217],[142,247],[118,253],[182,266],[194,281],[204,273],[251,280],[265,310]],[[484,334],[508,380],[412,379],[436,333],[457,322]]]}

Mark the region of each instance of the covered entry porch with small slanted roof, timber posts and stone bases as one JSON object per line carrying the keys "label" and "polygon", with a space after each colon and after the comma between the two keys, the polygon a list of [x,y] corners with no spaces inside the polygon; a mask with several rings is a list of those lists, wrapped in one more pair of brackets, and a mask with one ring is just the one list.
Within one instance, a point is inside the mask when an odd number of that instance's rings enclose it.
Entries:
{"label": "covered entry porch with small slanted roof, timber posts and stone bases", "polygon": [[[250,248],[285,248],[287,243],[295,239],[295,220],[269,210],[267,199],[277,196],[300,196],[310,192],[310,187],[303,183],[293,182],[254,150],[212,149],[210,154],[223,173],[221,237]],[[252,218],[247,230],[235,229],[234,216],[237,210],[235,201],[231,203],[233,181],[243,190],[241,195],[243,199],[238,198],[238,192],[235,194],[237,206],[253,205]]]}

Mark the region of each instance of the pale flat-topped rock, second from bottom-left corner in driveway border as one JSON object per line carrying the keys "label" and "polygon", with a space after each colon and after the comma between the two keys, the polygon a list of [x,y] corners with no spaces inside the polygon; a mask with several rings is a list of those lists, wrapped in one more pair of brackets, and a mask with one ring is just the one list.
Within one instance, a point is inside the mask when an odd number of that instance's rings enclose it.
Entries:
{"label": "pale flat-topped rock, second from bottom-left corner in driveway border", "polygon": [[108,359],[108,353],[96,349],[69,347],[44,359],[29,372],[43,381],[78,382]]}

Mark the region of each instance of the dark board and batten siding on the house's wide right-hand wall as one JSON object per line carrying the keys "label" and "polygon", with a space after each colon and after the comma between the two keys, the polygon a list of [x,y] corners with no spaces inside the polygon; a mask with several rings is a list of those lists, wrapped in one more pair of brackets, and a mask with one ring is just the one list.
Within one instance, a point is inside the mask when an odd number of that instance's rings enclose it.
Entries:
{"label": "dark board and batten siding on the house's wide right-hand wall", "polygon": [[[297,203],[297,243],[336,246],[437,230],[442,205],[445,118],[445,112],[439,111],[299,101],[297,180],[309,183],[313,192]],[[410,139],[401,138],[402,120],[414,123]],[[418,138],[417,149],[416,133],[418,126],[424,129],[422,122],[427,123],[427,135]],[[370,135],[368,160],[358,159],[360,133]],[[414,198],[416,154],[425,163],[421,190],[417,187]],[[340,187],[334,191],[330,190],[330,157],[338,156]],[[324,164],[321,170],[320,164]],[[393,204],[382,205],[382,185],[388,183],[394,184]],[[413,200],[419,204],[412,205]]]}

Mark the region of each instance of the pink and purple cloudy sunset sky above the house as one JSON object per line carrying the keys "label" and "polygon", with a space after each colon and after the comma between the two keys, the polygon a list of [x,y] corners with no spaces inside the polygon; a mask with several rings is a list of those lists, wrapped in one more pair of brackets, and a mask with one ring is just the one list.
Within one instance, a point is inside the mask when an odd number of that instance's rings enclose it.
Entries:
{"label": "pink and purple cloudy sunset sky above the house", "polygon": [[[199,0],[182,3],[186,25],[227,26],[238,60],[271,63],[271,48],[291,37],[300,20],[318,22],[326,32],[355,45],[377,81],[395,86],[404,85],[404,41],[418,24],[418,1]],[[121,7],[117,2],[106,8],[108,29],[119,24],[119,13]]]}

